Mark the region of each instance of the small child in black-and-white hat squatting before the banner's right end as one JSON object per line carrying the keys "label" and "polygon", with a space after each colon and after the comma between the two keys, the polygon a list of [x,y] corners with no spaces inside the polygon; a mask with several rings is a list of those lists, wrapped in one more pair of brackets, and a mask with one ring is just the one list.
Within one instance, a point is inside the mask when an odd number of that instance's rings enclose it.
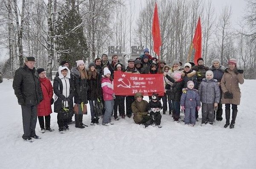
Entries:
{"label": "small child in black-and-white hat squatting before the banner's right end", "polygon": [[160,110],[163,109],[161,102],[159,101],[159,97],[157,93],[152,94],[152,99],[149,101],[149,108],[148,112],[150,113],[151,121],[153,125],[161,128],[161,118],[162,115],[160,114]]}

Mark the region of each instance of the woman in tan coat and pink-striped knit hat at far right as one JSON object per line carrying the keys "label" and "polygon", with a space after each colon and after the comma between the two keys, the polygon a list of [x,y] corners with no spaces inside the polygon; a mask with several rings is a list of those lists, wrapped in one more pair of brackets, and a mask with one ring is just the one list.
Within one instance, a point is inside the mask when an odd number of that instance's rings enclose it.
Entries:
{"label": "woman in tan coat and pink-striped knit hat at far right", "polygon": [[[239,83],[244,83],[244,70],[236,68],[237,60],[230,59],[228,68],[225,69],[221,79],[221,104],[225,104],[226,124],[224,128],[230,125],[230,129],[235,127],[237,106],[240,104],[241,92]],[[232,121],[230,124],[230,104],[232,104]]]}

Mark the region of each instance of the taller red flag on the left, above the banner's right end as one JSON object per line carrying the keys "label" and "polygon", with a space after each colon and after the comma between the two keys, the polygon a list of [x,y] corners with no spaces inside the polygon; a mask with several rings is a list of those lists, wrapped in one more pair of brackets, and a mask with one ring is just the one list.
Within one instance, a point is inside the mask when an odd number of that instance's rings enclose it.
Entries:
{"label": "taller red flag on the left, above the banner's right end", "polygon": [[152,24],[152,37],[154,41],[154,52],[160,56],[160,46],[162,45],[161,34],[160,34],[160,25],[157,12],[157,3],[155,4],[154,15],[153,15],[153,24]]}

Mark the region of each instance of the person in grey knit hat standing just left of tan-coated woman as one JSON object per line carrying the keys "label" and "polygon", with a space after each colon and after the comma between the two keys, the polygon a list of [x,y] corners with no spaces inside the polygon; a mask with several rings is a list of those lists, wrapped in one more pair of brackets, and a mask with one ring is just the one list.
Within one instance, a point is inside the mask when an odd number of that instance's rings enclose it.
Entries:
{"label": "person in grey knit hat standing just left of tan-coated woman", "polygon": [[[212,60],[212,67],[210,68],[210,70],[212,70],[213,72],[213,77],[214,79],[217,80],[218,86],[220,88],[220,93],[222,93],[221,91],[221,78],[224,74],[225,71],[225,67],[221,65],[221,61],[219,59],[213,59]],[[221,121],[222,118],[222,104],[221,102],[218,103],[218,109],[216,110],[216,120],[217,121]]]}

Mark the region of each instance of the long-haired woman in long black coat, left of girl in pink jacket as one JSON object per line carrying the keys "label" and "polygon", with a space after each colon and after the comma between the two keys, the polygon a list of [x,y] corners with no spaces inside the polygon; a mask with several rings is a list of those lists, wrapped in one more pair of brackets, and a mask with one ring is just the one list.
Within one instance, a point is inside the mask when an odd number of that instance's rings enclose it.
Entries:
{"label": "long-haired woman in long black coat, left of girl in pink jacket", "polygon": [[[94,111],[98,97],[102,97],[101,75],[96,70],[95,63],[90,63],[88,69],[88,100],[90,104],[91,124],[99,124],[99,115]],[[102,113],[101,113],[102,114]]]}

